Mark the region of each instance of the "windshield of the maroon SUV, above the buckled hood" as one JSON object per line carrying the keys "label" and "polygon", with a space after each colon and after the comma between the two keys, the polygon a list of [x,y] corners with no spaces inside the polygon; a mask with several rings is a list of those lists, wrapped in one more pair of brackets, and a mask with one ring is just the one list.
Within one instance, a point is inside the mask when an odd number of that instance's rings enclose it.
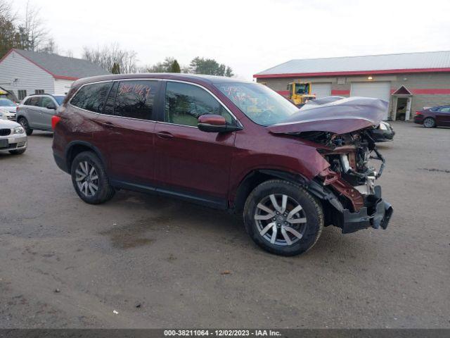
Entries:
{"label": "windshield of the maroon SUV, above the buckled hood", "polygon": [[214,85],[258,125],[281,123],[298,111],[290,101],[262,84],[236,82]]}

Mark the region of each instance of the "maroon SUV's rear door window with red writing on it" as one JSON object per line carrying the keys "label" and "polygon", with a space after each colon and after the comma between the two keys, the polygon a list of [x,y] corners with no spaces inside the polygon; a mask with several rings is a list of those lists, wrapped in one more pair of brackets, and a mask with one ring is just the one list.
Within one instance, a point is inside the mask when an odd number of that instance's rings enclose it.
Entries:
{"label": "maroon SUV's rear door window with red writing on it", "polygon": [[[153,120],[153,99],[158,81],[136,80],[115,84],[108,99],[105,113],[126,118]],[[117,88],[117,89],[116,89]],[[112,111],[115,96],[114,111]]]}

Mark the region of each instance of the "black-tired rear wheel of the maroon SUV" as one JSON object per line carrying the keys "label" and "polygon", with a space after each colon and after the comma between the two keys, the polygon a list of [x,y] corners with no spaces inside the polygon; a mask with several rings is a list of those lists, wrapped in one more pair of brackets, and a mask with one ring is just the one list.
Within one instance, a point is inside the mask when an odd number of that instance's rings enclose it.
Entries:
{"label": "black-tired rear wheel of the maroon SUV", "polygon": [[[94,167],[94,174],[96,175],[92,177],[97,176],[98,178],[96,180],[89,180],[89,183],[94,183],[94,186],[98,187],[95,193],[91,194],[91,191],[87,192],[87,188],[84,185],[83,189],[86,188],[86,192],[82,192],[82,190],[80,189],[78,183],[80,184],[84,183],[82,181],[77,182],[77,175],[78,175],[77,170],[79,172],[80,163],[83,163],[82,165],[88,163],[90,165],[89,168]],[[79,198],[85,201],[86,203],[101,204],[113,198],[115,190],[110,185],[108,175],[106,175],[103,163],[101,162],[100,158],[98,158],[98,156],[96,156],[96,154],[94,154],[93,152],[83,151],[82,153],[79,153],[77,156],[75,156],[74,160],[72,161],[70,173],[72,175],[72,184],[73,187],[75,188],[75,192],[77,192]],[[80,175],[78,175],[78,177],[80,177]],[[88,183],[86,182],[86,184]],[[89,194],[91,194],[91,196],[89,196]]]}

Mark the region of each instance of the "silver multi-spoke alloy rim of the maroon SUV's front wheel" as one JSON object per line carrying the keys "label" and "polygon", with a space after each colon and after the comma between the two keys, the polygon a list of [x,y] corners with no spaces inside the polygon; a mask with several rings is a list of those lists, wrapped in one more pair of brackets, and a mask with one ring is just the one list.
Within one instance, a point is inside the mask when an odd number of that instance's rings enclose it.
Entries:
{"label": "silver multi-spoke alloy rim of the maroon SUV's front wheel", "polygon": [[302,206],[285,194],[271,194],[257,204],[255,223],[271,244],[288,246],[302,239],[307,218]]}

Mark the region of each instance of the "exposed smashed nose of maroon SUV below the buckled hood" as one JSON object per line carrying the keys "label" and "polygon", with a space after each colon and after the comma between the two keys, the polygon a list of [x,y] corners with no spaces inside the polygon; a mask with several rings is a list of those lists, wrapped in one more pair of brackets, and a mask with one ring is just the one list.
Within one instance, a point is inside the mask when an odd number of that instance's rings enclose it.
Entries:
{"label": "exposed smashed nose of maroon SUV below the buckled hood", "polygon": [[[311,181],[309,190],[330,202],[326,211],[328,225],[342,233],[373,227],[386,229],[392,216],[392,206],[381,197],[381,187],[375,180],[383,173],[385,158],[364,130],[352,134],[333,135],[336,146],[319,149],[330,167]],[[378,170],[371,160],[380,161]]]}

